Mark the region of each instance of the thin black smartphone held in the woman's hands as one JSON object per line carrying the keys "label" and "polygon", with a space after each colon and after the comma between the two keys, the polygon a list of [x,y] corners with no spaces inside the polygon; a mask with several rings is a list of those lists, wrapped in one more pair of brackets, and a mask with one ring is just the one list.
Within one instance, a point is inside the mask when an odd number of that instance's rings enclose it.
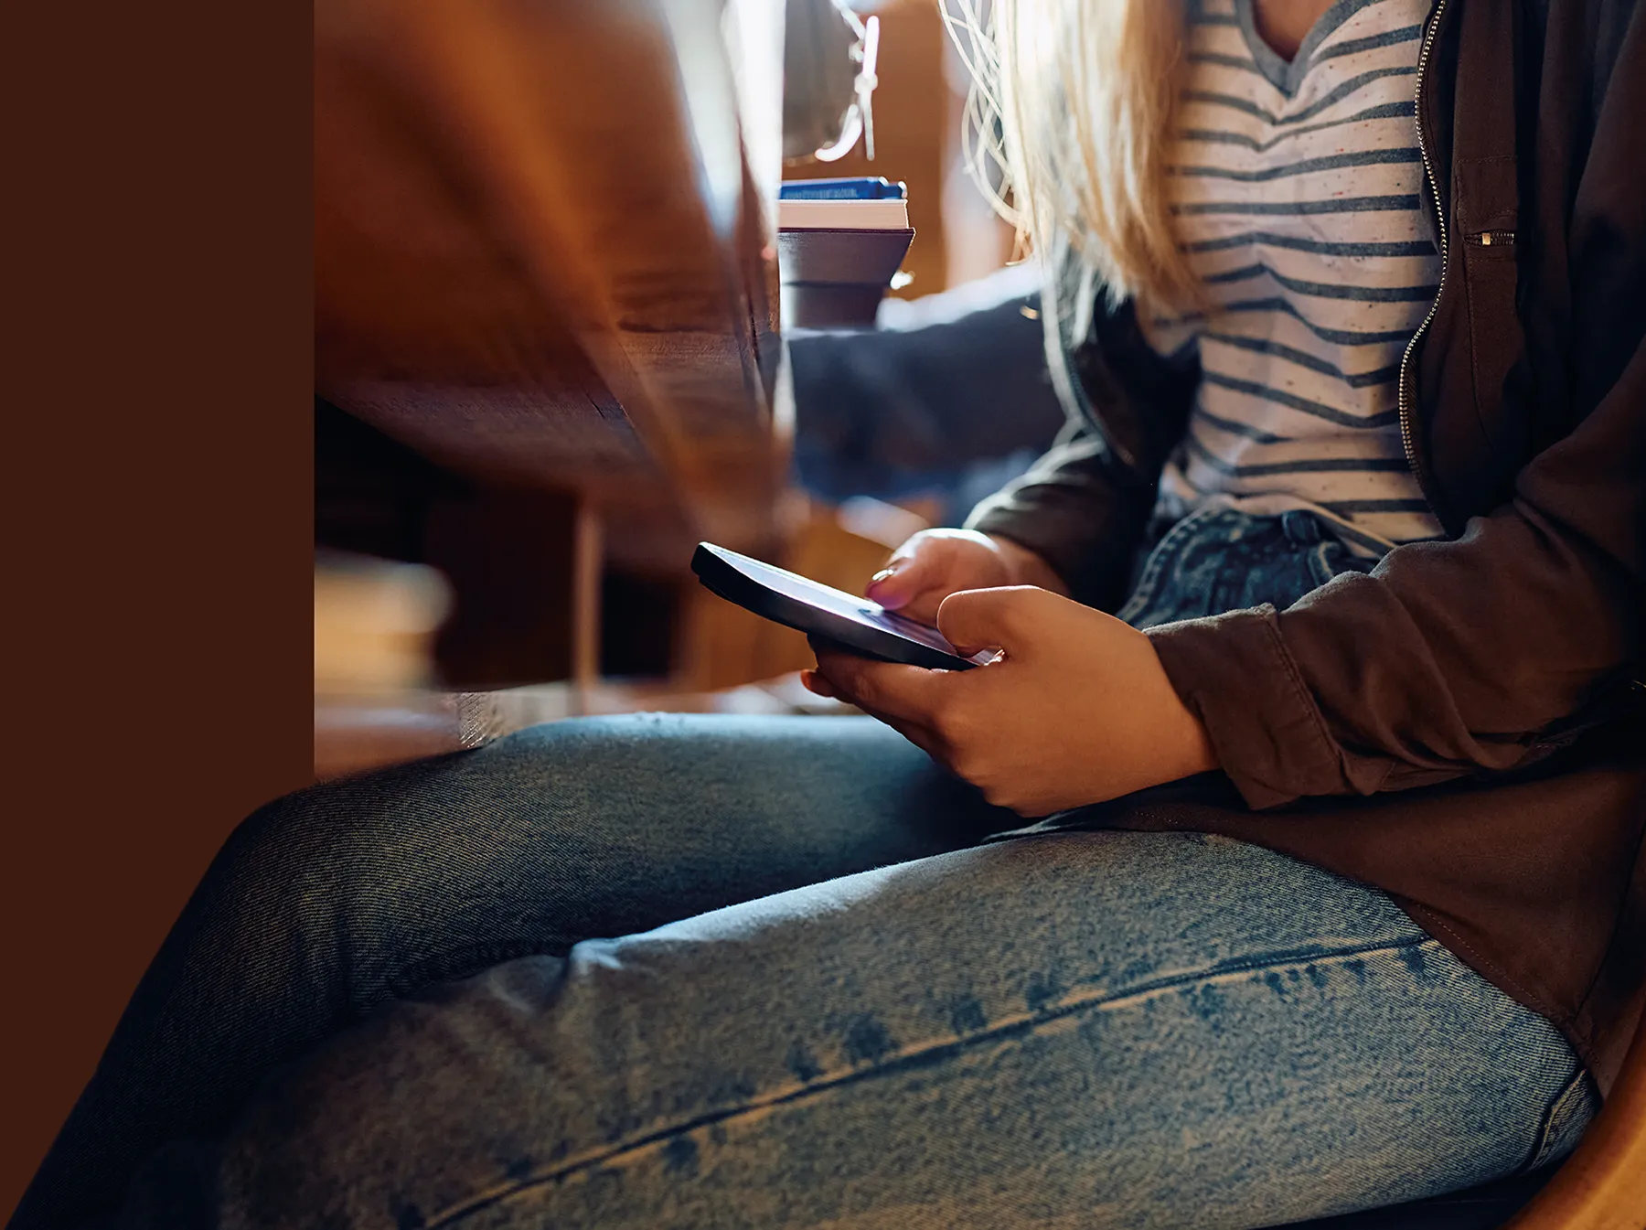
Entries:
{"label": "thin black smartphone held in the woman's hands", "polygon": [[698,543],[691,571],[728,603],[864,657],[928,670],[971,670],[994,657],[993,650],[961,657],[935,627],[711,542]]}

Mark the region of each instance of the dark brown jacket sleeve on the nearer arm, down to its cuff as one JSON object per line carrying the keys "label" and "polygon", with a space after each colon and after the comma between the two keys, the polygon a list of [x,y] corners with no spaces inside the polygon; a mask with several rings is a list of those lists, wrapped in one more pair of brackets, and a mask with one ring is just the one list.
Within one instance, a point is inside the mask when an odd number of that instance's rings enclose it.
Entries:
{"label": "dark brown jacket sleeve on the nearer arm, down to its cuff", "polygon": [[1149,632],[1253,807],[1513,769],[1646,700],[1641,15],[1623,48],[1565,231],[1575,426],[1452,542]]}

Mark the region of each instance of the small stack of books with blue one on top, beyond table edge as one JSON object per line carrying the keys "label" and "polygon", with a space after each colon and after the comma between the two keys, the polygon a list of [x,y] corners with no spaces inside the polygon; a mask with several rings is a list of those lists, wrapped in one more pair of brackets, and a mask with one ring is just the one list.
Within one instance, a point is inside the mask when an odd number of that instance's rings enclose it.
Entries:
{"label": "small stack of books with blue one on top, beyond table edge", "polygon": [[909,193],[882,179],[792,179],[779,193],[783,328],[874,328],[915,232]]}

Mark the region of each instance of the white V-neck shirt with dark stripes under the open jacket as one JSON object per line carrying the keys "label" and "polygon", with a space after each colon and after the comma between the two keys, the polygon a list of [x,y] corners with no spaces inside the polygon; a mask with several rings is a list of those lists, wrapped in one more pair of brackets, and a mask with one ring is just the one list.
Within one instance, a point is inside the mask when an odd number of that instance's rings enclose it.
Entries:
{"label": "white V-neck shirt with dark stripes under the open jacket", "polygon": [[1358,555],[1442,532],[1397,412],[1401,354],[1440,278],[1412,119],[1429,8],[1338,0],[1287,63],[1251,0],[1190,5],[1170,191],[1210,306],[1144,321],[1159,352],[1202,369],[1164,517],[1310,509]]}

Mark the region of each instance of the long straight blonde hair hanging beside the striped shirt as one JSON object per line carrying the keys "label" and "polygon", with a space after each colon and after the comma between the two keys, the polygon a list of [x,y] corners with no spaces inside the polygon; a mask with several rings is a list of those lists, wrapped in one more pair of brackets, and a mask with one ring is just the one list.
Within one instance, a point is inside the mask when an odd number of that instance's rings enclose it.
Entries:
{"label": "long straight blonde hair hanging beside the striped shirt", "polygon": [[[1093,298],[1192,308],[1167,155],[1185,0],[943,0],[971,71],[966,155],[1078,339]],[[1049,321],[1049,328],[1055,319]]]}

